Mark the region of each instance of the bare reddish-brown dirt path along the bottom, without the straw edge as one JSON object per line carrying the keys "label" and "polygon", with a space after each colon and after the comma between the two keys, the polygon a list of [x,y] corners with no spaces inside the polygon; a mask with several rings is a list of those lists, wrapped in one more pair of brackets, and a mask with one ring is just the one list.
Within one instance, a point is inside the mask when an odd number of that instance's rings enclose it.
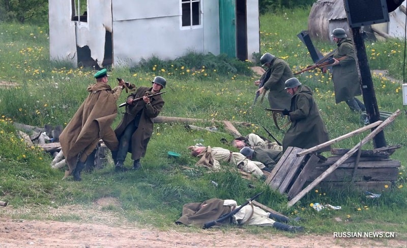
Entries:
{"label": "bare reddish-brown dirt path along the bottom, without the straw edge", "polygon": [[0,218],[0,247],[407,247],[406,241],[377,238],[334,238],[333,235],[271,234],[259,237],[244,229],[199,230],[182,227],[159,231],[56,221]]}

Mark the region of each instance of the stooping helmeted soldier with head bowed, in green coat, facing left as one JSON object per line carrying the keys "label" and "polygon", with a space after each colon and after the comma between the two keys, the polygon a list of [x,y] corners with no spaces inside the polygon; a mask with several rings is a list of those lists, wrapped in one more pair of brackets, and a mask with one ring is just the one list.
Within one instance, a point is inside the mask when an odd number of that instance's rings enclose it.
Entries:
{"label": "stooping helmeted soldier with head bowed, in green coat, facing left", "polygon": [[267,67],[266,72],[255,81],[254,84],[259,86],[264,82],[263,87],[258,89],[260,94],[264,94],[269,90],[269,103],[272,109],[288,109],[291,96],[284,89],[284,82],[293,78],[293,71],[284,60],[275,57],[270,53],[265,53],[260,58],[262,66]]}

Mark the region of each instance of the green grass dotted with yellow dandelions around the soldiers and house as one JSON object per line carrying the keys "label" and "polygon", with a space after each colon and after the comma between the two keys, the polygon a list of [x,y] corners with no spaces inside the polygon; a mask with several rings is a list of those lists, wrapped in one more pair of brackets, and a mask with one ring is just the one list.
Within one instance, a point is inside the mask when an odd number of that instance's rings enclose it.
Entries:
{"label": "green grass dotted with yellow dandelions around the soldiers and house", "polygon": [[[309,9],[295,9],[261,16],[261,52],[270,52],[285,59],[295,71],[312,64],[305,45],[297,38],[297,33],[307,29],[308,13]],[[146,157],[141,161],[141,170],[114,173],[109,160],[103,169],[84,173],[80,183],[62,181],[63,169],[51,169],[50,155],[36,147],[26,147],[11,122],[40,127],[45,124],[66,125],[86,97],[86,87],[94,82],[94,72],[89,68],[70,68],[63,63],[49,62],[46,27],[2,22],[0,29],[0,81],[17,84],[0,88],[0,200],[9,201],[15,209],[27,206],[59,208],[70,204],[90,207],[97,199],[114,197],[121,205],[109,205],[103,207],[102,211],[114,212],[130,222],[168,229],[173,228],[173,222],[180,216],[184,203],[212,197],[235,199],[243,203],[247,197],[263,191],[259,202],[287,216],[301,216],[305,219],[302,224],[310,233],[380,229],[395,231],[400,237],[407,231],[407,217],[403,214],[407,207],[404,166],[407,161],[404,148],[407,121],[404,114],[385,129],[388,145],[403,146],[392,155],[393,159],[401,161],[402,167],[392,189],[376,192],[382,193],[380,198],[368,199],[352,187],[340,190],[316,187],[293,207],[287,207],[284,195],[271,190],[261,181],[240,178],[230,167],[216,173],[195,168],[196,158],[189,155],[188,146],[200,142],[206,146],[224,147],[220,139],[232,139],[222,123],[217,121],[250,123],[248,126],[236,125],[242,134],[256,132],[267,136],[261,128],[265,126],[279,140],[284,135],[284,131],[274,127],[270,113],[264,111],[269,107],[267,99],[250,108],[256,90],[253,81],[257,76],[248,75],[247,67],[253,64],[230,61],[222,56],[189,53],[169,62],[151,58],[134,68],[113,69],[113,80],[109,82],[113,86],[117,83],[114,78],[121,77],[137,86],[150,85],[155,76],[163,76],[168,83],[167,92],[163,95],[165,106],[160,115],[203,119],[205,121],[194,125],[216,125],[219,132],[189,131],[180,123],[155,124]],[[370,53],[370,69],[387,69],[392,77],[400,79],[403,48],[399,44],[402,42],[396,40],[366,43],[366,50]],[[325,43],[316,46],[324,53],[335,48],[334,44]],[[363,126],[359,115],[350,112],[345,103],[335,104],[329,74],[315,70],[302,74],[299,79],[314,90],[331,138]],[[373,84],[380,110],[404,110],[400,84],[382,75],[373,75]],[[118,104],[124,102],[126,96],[122,94]],[[113,127],[119,123],[123,111],[119,109]],[[366,134],[344,139],[333,146],[352,148]],[[373,145],[368,143],[363,148],[371,149]],[[181,157],[168,157],[168,151],[177,152]],[[130,167],[131,164],[128,156],[125,165]],[[181,166],[195,170],[186,170]],[[218,187],[210,181],[217,182]],[[309,206],[315,202],[340,205],[342,210],[316,212]],[[20,215],[44,218],[39,213]],[[344,221],[336,222],[335,217]],[[49,215],[45,218],[83,221],[83,217],[77,214]],[[249,229],[253,233],[266,232],[255,227]]]}

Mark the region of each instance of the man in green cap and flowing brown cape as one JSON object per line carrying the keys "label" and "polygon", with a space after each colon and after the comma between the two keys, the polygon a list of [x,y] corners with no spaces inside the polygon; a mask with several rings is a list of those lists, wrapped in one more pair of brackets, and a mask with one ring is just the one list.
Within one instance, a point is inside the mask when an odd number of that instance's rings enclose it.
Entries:
{"label": "man in green cap and flowing brown cape", "polygon": [[81,181],[80,173],[86,159],[92,154],[102,139],[112,151],[118,150],[119,140],[111,128],[117,116],[117,99],[123,90],[124,81],[111,88],[107,82],[107,69],[101,69],[93,76],[96,83],[88,87],[88,97],[80,105],[71,121],[60,135],[61,148],[69,169],[65,177],[73,175]]}

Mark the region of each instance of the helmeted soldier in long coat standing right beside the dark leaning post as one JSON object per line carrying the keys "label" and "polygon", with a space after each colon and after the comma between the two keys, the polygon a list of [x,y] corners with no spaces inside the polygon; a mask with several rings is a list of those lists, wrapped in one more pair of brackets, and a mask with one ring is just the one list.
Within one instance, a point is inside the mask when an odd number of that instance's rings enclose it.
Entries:
{"label": "helmeted soldier in long coat standing right beside the dark leaning post", "polygon": [[355,97],[361,95],[362,92],[352,39],[347,38],[345,30],[342,28],[334,29],[332,37],[338,48],[333,55],[335,62],[327,66],[332,66],[335,102],[345,101],[351,110],[365,111],[365,105]]}

